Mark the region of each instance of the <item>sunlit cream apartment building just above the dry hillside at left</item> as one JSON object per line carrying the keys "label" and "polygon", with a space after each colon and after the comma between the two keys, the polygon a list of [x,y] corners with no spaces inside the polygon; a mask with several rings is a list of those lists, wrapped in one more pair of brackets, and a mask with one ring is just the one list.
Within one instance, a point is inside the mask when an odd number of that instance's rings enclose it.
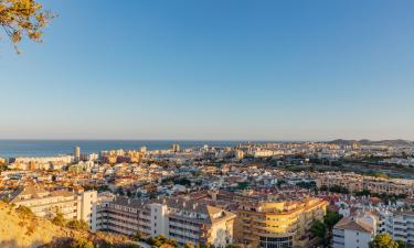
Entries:
{"label": "sunlit cream apartment building just above the dry hillside at left", "polygon": [[96,191],[46,191],[39,186],[24,186],[11,196],[10,203],[26,206],[33,214],[53,218],[62,213],[66,219],[82,219],[96,230]]}

